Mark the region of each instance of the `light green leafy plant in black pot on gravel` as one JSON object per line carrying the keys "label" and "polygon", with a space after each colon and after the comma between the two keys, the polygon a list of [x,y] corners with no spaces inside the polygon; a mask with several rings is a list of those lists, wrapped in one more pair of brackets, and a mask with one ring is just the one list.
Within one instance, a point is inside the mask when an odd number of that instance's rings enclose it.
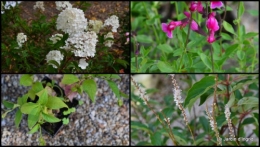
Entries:
{"label": "light green leafy plant in black pot on gravel", "polygon": [[[31,86],[29,91],[17,99],[16,103],[3,101],[7,108],[2,118],[5,118],[7,113],[17,109],[15,113],[15,126],[18,128],[23,115],[28,115],[27,123],[30,129],[29,134],[37,131],[40,132],[40,144],[45,145],[42,137],[42,128],[50,126],[51,123],[69,123],[69,114],[76,111],[75,107],[78,104],[83,104],[82,100],[75,101],[77,94],[86,92],[93,103],[95,103],[97,84],[94,78],[102,78],[107,80],[110,88],[118,97],[118,105],[123,104],[122,97],[128,97],[118,89],[118,86],[113,79],[120,79],[118,75],[64,75],[61,80],[61,87],[53,80],[44,78],[40,81],[33,81],[32,75],[22,75],[20,85]],[[62,117],[64,116],[64,117]],[[54,130],[48,130],[53,132]],[[54,135],[53,133],[51,135]]]}

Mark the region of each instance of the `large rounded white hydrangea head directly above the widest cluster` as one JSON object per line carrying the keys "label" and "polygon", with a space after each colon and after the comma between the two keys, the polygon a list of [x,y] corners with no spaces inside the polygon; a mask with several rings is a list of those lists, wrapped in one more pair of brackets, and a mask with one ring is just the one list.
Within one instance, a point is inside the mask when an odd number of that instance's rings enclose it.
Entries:
{"label": "large rounded white hydrangea head directly above the widest cluster", "polygon": [[57,18],[57,29],[68,34],[83,32],[87,28],[84,12],[77,8],[63,10]]}

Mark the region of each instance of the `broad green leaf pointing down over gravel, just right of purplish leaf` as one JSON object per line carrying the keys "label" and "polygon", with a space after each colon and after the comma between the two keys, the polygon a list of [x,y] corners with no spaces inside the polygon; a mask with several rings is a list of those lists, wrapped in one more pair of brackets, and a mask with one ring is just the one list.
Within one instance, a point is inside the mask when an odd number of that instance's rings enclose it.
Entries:
{"label": "broad green leaf pointing down over gravel, just right of purplish leaf", "polygon": [[93,103],[95,103],[95,97],[97,92],[97,84],[93,79],[85,80],[82,83],[83,90],[88,94]]}

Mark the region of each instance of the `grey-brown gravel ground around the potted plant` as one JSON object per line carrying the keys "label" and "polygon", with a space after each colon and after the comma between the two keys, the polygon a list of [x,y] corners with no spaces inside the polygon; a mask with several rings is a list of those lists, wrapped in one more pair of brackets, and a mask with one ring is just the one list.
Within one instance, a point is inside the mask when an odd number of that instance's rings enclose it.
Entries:
{"label": "grey-brown gravel ground around the potted plant", "polygon": [[[44,76],[61,81],[63,75],[38,74],[34,80],[41,80]],[[129,75],[122,74],[116,83],[121,91],[129,95]],[[28,90],[19,86],[19,74],[1,75],[1,101],[16,102]],[[76,112],[70,116],[69,125],[63,126],[54,138],[43,133],[46,145],[129,145],[129,99],[119,107],[117,98],[108,83],[102,79],[95,79],[98,90],[96,103],[93,104],[86,94],[78,95],[77,99],[84,101]],[[4,106],[1,103],[1,114]],[[14,125],[15,111],[10,112],[1,120],[1,145],[38,145],[39,133],[27,134],[29,131],[27,119],[23,117],[20,127]]]}

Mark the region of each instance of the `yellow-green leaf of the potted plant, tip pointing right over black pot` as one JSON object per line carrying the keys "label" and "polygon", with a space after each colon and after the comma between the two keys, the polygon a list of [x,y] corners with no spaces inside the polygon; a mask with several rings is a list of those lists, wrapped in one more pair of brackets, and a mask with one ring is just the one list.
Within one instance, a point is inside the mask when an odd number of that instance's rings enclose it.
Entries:
{"label": "yellow-green leaf of the potted plant, tip pointing right over black pot", "polygon": [[59,97],[55,96],[50,96],[48,98],[46,107],[50,109],[68,108],[68,106]]}

